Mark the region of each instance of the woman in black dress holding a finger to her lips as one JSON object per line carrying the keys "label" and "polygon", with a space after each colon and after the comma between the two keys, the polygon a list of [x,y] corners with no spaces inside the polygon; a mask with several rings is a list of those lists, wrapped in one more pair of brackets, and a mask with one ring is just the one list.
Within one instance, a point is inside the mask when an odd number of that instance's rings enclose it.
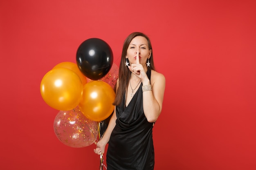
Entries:
{"label": "woman in black dress holding a finger to her lips", "polygon": [[139,32],[125,40],[116,84],[114,114],[94,152],[108,143],[108,170],[153,170],[152,129],[162,110],[165,77],[155,71],[149,38]]}

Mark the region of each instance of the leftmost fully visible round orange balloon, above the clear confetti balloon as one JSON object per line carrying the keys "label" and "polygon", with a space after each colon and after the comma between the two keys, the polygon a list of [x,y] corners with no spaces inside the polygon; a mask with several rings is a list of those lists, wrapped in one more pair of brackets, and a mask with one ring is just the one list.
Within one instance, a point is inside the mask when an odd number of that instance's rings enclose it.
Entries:
{"label": "leftmost fully visible round orange balloon, above the clear confetti balloon", "polygon": [[83,84],[74,71],[68,68],[54,68],[41,80],[40,93],[52,108],[72,110],[81,101]]}

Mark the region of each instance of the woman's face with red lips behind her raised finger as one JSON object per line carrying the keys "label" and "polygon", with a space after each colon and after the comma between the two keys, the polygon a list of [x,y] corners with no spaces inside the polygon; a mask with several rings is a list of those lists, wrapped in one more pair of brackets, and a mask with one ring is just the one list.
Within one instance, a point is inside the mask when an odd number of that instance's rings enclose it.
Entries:
{"label": "woman's face with red lips behind her raised finger", "polygon": [[130,64],[136,64],[136,55],[139,53],[139,63],[143,66],[146,65],[148,58],[151,56],[151,50],[148,49],[148,41],[145,37],[137,36],[130,42],[126,58]]}

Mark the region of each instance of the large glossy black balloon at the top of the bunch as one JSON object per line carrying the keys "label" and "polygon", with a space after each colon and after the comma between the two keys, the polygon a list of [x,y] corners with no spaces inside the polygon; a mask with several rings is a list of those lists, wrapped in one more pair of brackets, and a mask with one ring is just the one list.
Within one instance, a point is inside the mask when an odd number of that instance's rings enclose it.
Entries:
{"label": "large glossy black balloon at the top of the bunch", "polygon": [[101,79],[112,67],[112,49],[99,38],[85,40],[77,49],[76,64],[83,75],[89,79]]}

